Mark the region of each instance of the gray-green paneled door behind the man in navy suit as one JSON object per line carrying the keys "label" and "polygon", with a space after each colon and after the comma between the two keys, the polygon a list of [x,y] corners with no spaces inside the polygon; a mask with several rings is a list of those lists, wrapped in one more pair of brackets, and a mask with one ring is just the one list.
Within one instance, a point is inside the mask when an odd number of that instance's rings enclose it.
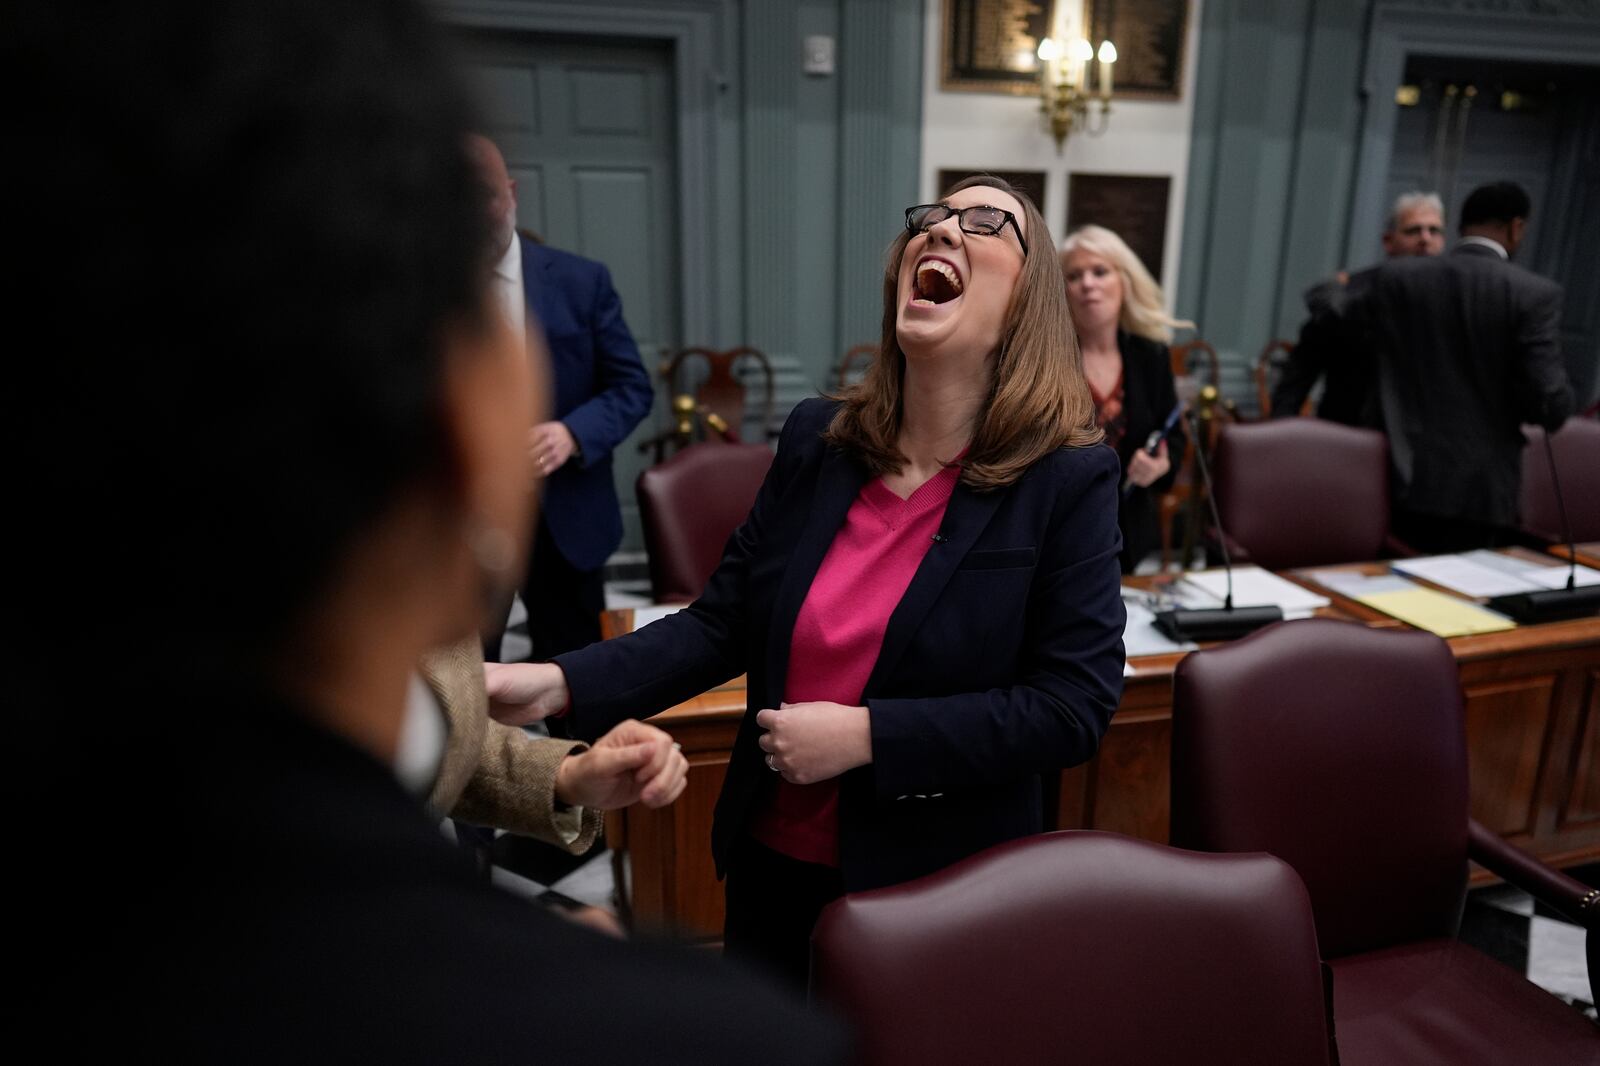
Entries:
{"label": "gray-green paneled door behind the man in navy suit", "polygon": [[[677,109],[672,48],[536,34],[462,38],[485,133],[517,179],[517,219],[554,248],[611,269],[645,368],[678,347]],[[614,455],[622,551],[640,551],[634,480],[656,410]]]}

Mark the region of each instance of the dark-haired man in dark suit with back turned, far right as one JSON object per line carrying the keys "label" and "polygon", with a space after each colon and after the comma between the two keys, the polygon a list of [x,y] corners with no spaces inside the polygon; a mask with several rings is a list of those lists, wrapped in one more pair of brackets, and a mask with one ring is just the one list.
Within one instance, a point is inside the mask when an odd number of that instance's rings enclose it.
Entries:
{"label": "dark-haired man in dark suit with back turned, far right", "polygon": [[1451,254],[1386,262],[1347,301],[1378,343],[1394,530],[1419,551],[1506,543],[1522,424],[1555,429],[1573,413],[1562,290],[1510,262],[1530,210],[1515,182],[1474,189]]}

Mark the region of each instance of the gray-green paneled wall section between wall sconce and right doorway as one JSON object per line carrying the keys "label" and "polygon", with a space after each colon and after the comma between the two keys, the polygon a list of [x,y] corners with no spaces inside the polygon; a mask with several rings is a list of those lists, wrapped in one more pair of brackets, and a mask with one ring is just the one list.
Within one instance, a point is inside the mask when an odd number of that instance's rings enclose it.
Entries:
{"label": "gray-green paneled wall section between wall sconce and right doorway", "polygon": [[1178,314],[1254,408],[1250,368],[1293,338],[1299,293],[1339,269],[1360,101],[1362,3],[1208,0]]}

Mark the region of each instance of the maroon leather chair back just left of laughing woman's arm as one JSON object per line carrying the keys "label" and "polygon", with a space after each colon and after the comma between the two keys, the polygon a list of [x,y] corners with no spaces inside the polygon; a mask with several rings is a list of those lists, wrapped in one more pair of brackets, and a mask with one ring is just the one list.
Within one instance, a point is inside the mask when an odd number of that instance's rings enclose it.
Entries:
{"label": "maroon leather chair back just left of laughing woman's arm", "polygon": [[706,442],[638,475],[651,599],[686,603],[701,594],[771,464],[766,445]]}

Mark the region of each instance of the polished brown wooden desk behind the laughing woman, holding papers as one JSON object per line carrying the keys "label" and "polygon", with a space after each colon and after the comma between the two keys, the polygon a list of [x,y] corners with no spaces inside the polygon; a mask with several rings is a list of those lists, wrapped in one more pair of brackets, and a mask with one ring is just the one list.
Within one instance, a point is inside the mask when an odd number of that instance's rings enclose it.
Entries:
{"label": "polished brown wooden desk behind the laughing woman, holding papers", "polygon": [[[1547,555],[1526,552],[1523,557]],[[1387,563],[1357,567],[1381,573]],[[1320,615],[1370,626],[1402,623],[1322,589]],[[630,611],[606,631],[627,632]],[[1450,648],[1466,695],[1472,815],[1555,866],[1600,860],[1600,618],[1458,637]],[[1130,659],[1133,675],[1099,754],[1062,771],[1056,828],[1109,829],[1146,840],[1168,836],[1173,669],[1182,655]],[[606,823],[629,856],[624,896],[643,928],[722,935],[722,885],[710,860],[710,816],[744,714],[742,679],[677,706],[653,722],[683,744],[688,787],[666,810],[634,807]],[[622,866],[622,863],[619,863]],[[1478,871],[1475,880],[1488,880]]]}

